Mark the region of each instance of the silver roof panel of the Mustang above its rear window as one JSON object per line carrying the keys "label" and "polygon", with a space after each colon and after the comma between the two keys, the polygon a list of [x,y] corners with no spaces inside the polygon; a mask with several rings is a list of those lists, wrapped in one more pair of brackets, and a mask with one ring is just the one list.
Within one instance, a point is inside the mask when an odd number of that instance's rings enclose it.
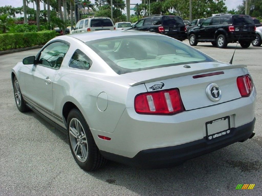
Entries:
{"label": "silver roof panel of the Mustang above its rear window", "polygon": [[[149,35],[154,34],[155,36],[163,36],[158,33],[152,33],[152,32],[144,32],[144,31],[134,31],[134,30],[128,30],[128,31],[113,31],[113,30],[102,30],[102,31],[90,31],[85,33],[74,33],[74,34],[67,34],[64,36],[70,36],[74,37],[82,42],[88,42],[93,41],[96,39],[103,39],[103,38],[111,38],[111,37],[120,37],[120,36],[134,36],[134,35]],[[59,36],[61,39],[62,36]]]}

